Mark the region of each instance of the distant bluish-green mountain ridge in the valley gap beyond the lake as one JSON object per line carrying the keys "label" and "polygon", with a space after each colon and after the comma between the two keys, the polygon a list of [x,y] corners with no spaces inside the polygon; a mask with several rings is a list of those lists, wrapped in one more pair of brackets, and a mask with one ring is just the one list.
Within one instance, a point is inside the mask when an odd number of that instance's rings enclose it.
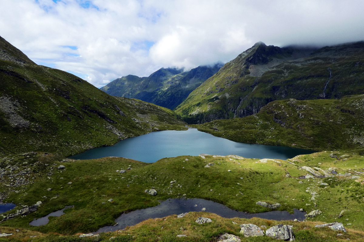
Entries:
{"label": "distant bluish-green mountain ridge in the valley gap beyond the lake", "polygon": [[115,79],[101,90],[112,96],[137,98],[173,110],[191,91],[217,73],[221,66],[220,63],[214,66],[198,66],[190,71],[161,68],[149,77],[127,75]]}

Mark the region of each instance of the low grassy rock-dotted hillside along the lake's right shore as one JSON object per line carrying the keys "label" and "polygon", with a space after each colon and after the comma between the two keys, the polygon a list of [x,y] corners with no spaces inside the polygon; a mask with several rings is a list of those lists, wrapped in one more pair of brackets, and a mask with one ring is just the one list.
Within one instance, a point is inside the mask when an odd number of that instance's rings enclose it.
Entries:
{"label": "low grassy rock-dotted hillside along the lake's right shore", "polygon": [[245,143],[364,151],[364,95],[270,102],[256,115],[192,125]]}

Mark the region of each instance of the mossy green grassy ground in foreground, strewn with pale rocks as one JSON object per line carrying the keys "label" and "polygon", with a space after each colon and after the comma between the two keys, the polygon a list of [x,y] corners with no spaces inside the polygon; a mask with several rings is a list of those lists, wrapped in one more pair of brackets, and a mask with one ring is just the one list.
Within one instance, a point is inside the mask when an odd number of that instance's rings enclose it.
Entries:
{"label": "mossy green grassy ground in foreground, strewn with pale rocks", "polygon": [[[335,154],[341,156],[345,153]],[[21,208],[21,205],[32,205],[37,201],[42,201],[42,205],[36,212],[25,217],[19,216],[1,222],[1,226],[41,233],[55,232],[69,235],[87,233],[96,231],[102,226],[113,225],[114,219],[124,212],[155,206],[159,200],[186,194],[187,198],[213,200],[232,209],[249,213],[270,211],[268,208],[256,205],[257,201],[278,202],[282,205],[279,210],[289,212],[294,208],[303,208],[306,212],[319,209],[323,213],[308,221],[337,221],[344,223],[348,229],[363,231],[363,179],[350,179],[348,176],[301,179],[308,173],[301,168],[302,166],[312,167],[316,171],[319,171],[318,168],[327,170],[335,167],[338,174],[351,173],[353,176],[363,176],[362,156],[347,153],[345,156],[347,160],[343,161],[329,155],[330,152],[318,152],[297,156],[287,161],[268,160],[267,163],[261,163],[258,159],[242,159],[238,156],[206,155],[205,159],[201,156],[179,156],[164,158],[151,164],[117,157],[60,162],[64,157],[42,153],[29,158],[21,155],[7,157],[1,160],[1,168],[7,170],[17,165],[24,169],[31,168],[32,171],[25,176],[29,183],[23,186],[14,186],[15,181],[11,179],[15,180],[16,176],[3,177],[1,194],[8,194],[4,202],[14,202],[17,205],[17,208],[4,215],[13,213]],[[205,168],[208,163],[214,165]],[[57,169],[61,164],[66,168]],[[128,168],[129,165],[132,169],[126,173],[116,172]],[[287,174],[290,177],[287,177]],[[170,181],[173,180],[176,182],[170,186]],[[68,182],[72,184],[67,184]],[[328,185],[323,186],[322,183]],[[145,189],[152,187],[158,192],[156,196],[144,192]],[[47,188],[52,190],[47,191]],[[313,192],[317,193],[314,201],[311,200]],[[108,202],[110,198],[113,200]],[[74,208],[65,210],[66,214],[61,217],[50,217],[47,225],[39,227],[28,225],[34,218],[46,216],[50,212],[62,209],[65,205],[74,205]],[[338,218],[342,210],[346,211],[342,213],[343,217]],[[192,214],[192,217],[198,216]],[[187,218],[192,220],[192,217]],[[187,221],[187,218],[181,221]],[[179,229],[176,226],[180,225],[173,216],[169,219],[171,228],[168,232],[161,230],[160,227],[165,220],[160,219],[149,220],[134,227],[133,233],[140,237],[137,241],[152,238],[155,240],[160,236],[164,236],[165,239],[175,237],[174,234]],[[229,221],[222,218],[220,220]],[[149,223],[161,223],[162,226],[153,225],[157,227],[150,229]],[[186,224],[191,224],[185,226],[192,230],[190,232],[192,236],[195,225],[189,221]],[[209,241],[211,234],[221,232],[219,230],[221,226],[216,224],[206,226],[215,227],[206,230],[195,240]],[[232,231],[238,229],[235,226],[225,228]],[[147,233],[147,230],[150,232]],[[315,231],[312,232],[313,236],[317,235]],[[128,234],[133,233],[128,232]],[[331,233],[324,234],[329,236]]]}

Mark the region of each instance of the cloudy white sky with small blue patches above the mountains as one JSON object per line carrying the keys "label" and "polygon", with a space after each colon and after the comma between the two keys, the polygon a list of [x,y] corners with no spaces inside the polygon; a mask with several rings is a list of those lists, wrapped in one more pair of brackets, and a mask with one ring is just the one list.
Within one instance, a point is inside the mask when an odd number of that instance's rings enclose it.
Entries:
{"label": "cloudy white sky with small blue patches above the mountains", "polygon": [[228,62],[254,43],[364,40],[364,1],[1,0],[0,36],[96,87],[161,67]]}

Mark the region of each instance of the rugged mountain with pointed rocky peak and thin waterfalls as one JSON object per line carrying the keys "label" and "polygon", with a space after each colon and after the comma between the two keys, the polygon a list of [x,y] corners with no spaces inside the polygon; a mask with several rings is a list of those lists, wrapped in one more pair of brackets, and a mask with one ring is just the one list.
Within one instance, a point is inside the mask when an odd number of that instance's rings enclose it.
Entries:
{"label": "rugged mountain with pointed rocky peak and thin waterfalls", "polygon": [[339,99],[364,93],[364,42],[320,49],[258,42],[178,105],[187,123],[257,114],[275,100]]}

